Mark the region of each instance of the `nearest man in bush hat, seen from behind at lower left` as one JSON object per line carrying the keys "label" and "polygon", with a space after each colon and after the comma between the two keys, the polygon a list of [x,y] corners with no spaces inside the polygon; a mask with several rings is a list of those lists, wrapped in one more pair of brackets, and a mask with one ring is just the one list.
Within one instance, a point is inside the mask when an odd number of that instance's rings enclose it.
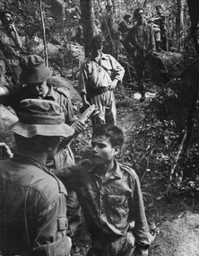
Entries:
{"label": "nearest man in bush hat, seen from behind at lower left", "polygon": [[[16,154],[0,163],[0,251],[3,255],[70,255],[66,190],[46,163],[74,128],[56,102],[28,99],[12,131]],[[3,192],[4,191],[4,192]]]}

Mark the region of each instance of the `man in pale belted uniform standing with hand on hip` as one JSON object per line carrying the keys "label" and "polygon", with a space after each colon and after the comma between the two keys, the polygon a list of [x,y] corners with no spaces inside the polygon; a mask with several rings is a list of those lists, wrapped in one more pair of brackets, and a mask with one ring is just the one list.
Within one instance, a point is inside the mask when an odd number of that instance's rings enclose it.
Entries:
{"label": "man in pale belted uniform standing with hand on hip", "polygon": [[92,38],[91,56],[82,63],[79,75],[83,106],[95,104],[99,108],[99,114],[92,119],[93,127],[116,124],[114,90],[125,74],[124,67],[114,57],[102,52],[103,43],[100,35]]}

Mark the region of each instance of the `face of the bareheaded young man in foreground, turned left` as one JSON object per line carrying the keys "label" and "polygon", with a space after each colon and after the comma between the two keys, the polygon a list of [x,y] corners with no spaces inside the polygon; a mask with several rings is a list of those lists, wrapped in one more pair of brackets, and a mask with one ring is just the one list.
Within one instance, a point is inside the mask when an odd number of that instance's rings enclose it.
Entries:
{"label": "face of the bareheaded young man in foreground, turned left", "polygon": [[109,137],[97,136],[92,137],[91,142],[91,161],[99,165],[105,165],[114,161],[120,147],[112,146]]}

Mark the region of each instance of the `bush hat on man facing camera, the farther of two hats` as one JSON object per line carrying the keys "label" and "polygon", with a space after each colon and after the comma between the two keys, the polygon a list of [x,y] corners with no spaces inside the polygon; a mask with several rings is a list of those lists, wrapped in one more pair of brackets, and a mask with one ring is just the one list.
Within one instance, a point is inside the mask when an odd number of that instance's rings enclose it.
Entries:
{"label": "bush hat on man facing camera, the farther of two hats", "polygon": [[46,66],[45,61],[39,55],[29,55],[22,58],[22,73],[20,82],[22,84],[42,83],[52,75],[52,70]]}

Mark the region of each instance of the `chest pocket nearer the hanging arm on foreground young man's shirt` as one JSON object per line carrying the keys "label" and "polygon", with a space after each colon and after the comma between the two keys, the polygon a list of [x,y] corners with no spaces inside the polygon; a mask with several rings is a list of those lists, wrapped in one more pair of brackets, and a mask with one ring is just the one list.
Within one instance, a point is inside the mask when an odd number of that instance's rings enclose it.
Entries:
{"label": "chest pocket nearer the hanging arm on foreground young man's shirt", "polygon": [[123,225],[128,216],[128,198],[126,196],[108,195],[108,221],[115,225]]}

